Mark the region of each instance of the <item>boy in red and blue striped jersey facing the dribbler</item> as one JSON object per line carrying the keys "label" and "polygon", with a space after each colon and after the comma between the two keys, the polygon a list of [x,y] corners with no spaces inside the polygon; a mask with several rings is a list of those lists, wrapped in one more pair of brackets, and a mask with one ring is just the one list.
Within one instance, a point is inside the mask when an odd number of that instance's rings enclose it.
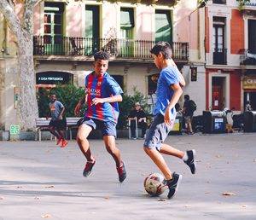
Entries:
{"label": "boy in red and blue striped jersey facing the dribbler", "polygon": [[123,93],[119,84],[108,74],[107,52],[99,51],[94,55],[94,71],[85,77],[85,96],[75,107],[75,115],[86,100],[87,110],[84,113],[84,120],[79,126],[77,142],[84,153],[87,162],[83,175],[88,177],[96,164],[96,159],[90,152],[90,143],[87,140],[91,130],[102,130],[103,141],[108,153],[115,161],[119,175],[119,182],[126,177],[125,164],[121,160],[119,149],[115,145],[116,124],[119,117],[118,101],[122,101]]}

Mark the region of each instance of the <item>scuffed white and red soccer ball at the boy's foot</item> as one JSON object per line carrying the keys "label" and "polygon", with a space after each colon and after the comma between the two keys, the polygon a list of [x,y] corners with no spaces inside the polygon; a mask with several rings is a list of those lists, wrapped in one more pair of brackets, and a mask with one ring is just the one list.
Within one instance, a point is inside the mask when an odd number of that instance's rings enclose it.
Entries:
{"label": "scuffed white and red soccer ball at the boy's foot", "polygon": [[166,191],[166,179],[160,173],[151,173],[144,180],[144,188],[151,196],[158,196]]}

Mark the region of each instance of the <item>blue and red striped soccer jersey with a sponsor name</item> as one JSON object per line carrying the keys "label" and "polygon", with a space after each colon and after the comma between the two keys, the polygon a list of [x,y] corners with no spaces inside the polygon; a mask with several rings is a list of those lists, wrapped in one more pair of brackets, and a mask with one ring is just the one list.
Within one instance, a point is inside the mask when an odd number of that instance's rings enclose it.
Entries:
{"label": "blue and red striped soccer jersey with a sponsor name", "polygon": [[88,107],[84,116],[91,119],[117,123],[119,118],[119,105],[117,102],[104,102],[91,105],[91,101],[94,98],[108,98],[123,93],[123,90],[113,77],[111,77],[108,72],[105,72],[99,77],[96,77],[94,72],[91,72],[85,77],[85,90],[87,93]]}

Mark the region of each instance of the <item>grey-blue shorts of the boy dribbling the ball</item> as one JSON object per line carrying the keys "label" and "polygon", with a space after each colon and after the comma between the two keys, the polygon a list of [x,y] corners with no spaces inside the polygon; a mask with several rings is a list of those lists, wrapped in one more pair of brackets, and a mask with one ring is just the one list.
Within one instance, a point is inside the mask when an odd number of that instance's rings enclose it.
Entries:
{"label": "grey-blue shorts of the boy dribbling the ball", "polygon": [[[173,120],[173,124],[174,121],[175,120]],[[166,140],[166,137],[172,130],[173,124],[167,125],[162,114],[155,115],[152,124],[147,130],[145,142],[143,145],[144,148],[156,148],[158,151],[160,151],[161,144]]]}

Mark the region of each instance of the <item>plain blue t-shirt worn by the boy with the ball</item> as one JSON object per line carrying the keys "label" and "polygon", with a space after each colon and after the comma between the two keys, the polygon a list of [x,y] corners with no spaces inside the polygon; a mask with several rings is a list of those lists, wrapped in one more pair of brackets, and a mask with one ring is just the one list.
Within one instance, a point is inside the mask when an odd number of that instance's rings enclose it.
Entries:
{"label": "plain blue t-shirt worn by the boy with the ball", "polygon": [[[171,88],[172,84],[179,84],[179,77],[176,67],[166,67],[161,70],[160,77],[157,81],[156,87],[156,103],[154,107],[154,115],[160,113],[165,115],[166,107],[172,100],[174,91]],[[171,119],[175,118],[175,107],[171,110]]]}

